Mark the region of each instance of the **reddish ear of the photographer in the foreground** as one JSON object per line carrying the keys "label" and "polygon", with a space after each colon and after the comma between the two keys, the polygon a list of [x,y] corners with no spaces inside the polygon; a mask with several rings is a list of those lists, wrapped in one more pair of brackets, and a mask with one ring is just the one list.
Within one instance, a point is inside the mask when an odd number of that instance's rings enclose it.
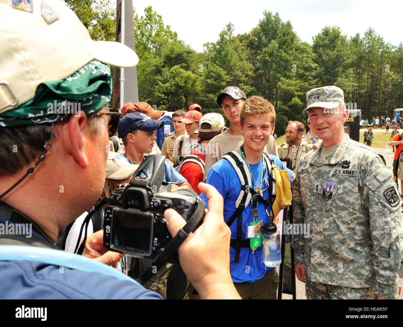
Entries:
{"label": "reddish ear of the photographer in the foreground", "polygon": [[60,140],[67,153],[73,155],[75,161],[86,168],[88,165],[87,155],[84,151],[84,136],[87,116],[83,111],[71,115],[69,121],[60,128]]}

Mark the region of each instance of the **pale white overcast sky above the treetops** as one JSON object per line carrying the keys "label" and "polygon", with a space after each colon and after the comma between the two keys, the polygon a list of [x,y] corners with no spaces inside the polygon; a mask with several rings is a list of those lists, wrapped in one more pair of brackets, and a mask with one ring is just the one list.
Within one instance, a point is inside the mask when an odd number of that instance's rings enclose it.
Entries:
{"label": "pale white overcast sky above the treetops", "polygon": [[[112,0],[113,1],[113,0]],[[165,25],[197,52],[203,43],[215,42],[229,21],[235,35],[249,32],[263,18],[263,11],[278,12],[282,21],[289,20],[302,41],[312,44],[312,36],[325,25],[341,27],[348,36],[364,36],[372,27],[384,41],[397,46],[403,39],[403,1],[401,0],[266,0],[266,1],[166,1],[133,0],[139,16],[152,6]]]}

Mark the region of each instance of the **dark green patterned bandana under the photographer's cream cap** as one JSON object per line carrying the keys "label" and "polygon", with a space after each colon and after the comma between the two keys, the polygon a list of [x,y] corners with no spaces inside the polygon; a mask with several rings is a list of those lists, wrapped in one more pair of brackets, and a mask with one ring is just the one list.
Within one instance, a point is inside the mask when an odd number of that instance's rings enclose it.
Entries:
{"label": "dark green patterned bandana under the photographer's cream cap", "polygon": [[92,60],[63,80],[39,84],[33,99],[0,114],[0,126],[59,122],[79,110],[91,114],[110,101],[111,92],[109,67]]}

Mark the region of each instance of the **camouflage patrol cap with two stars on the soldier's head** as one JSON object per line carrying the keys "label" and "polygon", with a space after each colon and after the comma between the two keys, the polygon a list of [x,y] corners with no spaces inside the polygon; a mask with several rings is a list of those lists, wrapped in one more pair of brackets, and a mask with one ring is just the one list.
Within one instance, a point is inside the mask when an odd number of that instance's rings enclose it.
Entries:
{"label": "camouflage patrol cap with two stars on the soldier's head", "polygon": [[344,104],[344,92],[337,86],[324,86],[312,89],[306,93],[307,107],[302,112],[308,111],[309,108],[328,108],[334,109],[339,104]]}

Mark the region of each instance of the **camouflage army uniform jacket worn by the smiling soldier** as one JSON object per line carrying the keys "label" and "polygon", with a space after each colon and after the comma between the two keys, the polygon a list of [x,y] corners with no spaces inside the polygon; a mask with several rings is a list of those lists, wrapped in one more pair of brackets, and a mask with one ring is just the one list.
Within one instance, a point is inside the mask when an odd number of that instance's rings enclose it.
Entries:
{"label": "camouflage army uniform jacket worn by the smiling soldier", "polygon": [[[292,236],[295,263],[305,264],[310,281],[397,298],[402,200],[392,172],[347,135],[333,155],[321,159],[321,151],[307,153],[297,168],[293,222],[310,224],[310,236]],[[324,180],[334,181],[330,199],[322,197]],[[306,291],[315,298],[314,287]]]}

